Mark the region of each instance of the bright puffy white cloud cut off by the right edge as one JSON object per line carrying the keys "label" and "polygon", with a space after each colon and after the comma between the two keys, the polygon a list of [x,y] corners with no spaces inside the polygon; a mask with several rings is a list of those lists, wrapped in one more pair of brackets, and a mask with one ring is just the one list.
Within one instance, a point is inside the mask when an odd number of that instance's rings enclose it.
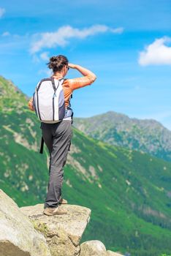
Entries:
{"label": "bright puffy white cloud cut off by the right edge", "polygon": [[140,52],[139,64],[142,66],[171,64],[171,47],[165,45],[169,42],[171,37],[162,37],[146,46],[145,50]]}

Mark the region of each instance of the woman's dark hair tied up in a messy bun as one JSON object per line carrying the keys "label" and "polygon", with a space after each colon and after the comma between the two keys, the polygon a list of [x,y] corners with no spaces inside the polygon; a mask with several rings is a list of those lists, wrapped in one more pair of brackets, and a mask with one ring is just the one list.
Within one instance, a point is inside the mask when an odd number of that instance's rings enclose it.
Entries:
{"label": "woman's dark hair tied up in a messy bun", "polygon": [[68,65],[68,59],[64,55],[53,56],[50,58],[49,63],[47,63],[47,66],[53,69],[53,72],[61,71],[65,65]]}

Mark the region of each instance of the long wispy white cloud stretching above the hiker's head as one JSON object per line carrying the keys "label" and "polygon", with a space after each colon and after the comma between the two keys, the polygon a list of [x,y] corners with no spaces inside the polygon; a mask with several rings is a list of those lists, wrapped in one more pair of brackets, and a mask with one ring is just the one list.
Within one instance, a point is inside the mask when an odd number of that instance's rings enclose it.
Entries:
{"label": "long wispy white cloud stretching above the hiker's head", "polygon": [[123,28],[110,29],[104,25],[94,25],[86,29],[75,29],[72,26],[62,26],[55,32],[46,32],[42,34],[35,34],[34,37],[40,37],[31,45],[31,53],[37,53],[42,48],[53,48],[56,46],[64,47],[69,43],[70,38],[84,39],[94,34],[113,32],[121,34]]}

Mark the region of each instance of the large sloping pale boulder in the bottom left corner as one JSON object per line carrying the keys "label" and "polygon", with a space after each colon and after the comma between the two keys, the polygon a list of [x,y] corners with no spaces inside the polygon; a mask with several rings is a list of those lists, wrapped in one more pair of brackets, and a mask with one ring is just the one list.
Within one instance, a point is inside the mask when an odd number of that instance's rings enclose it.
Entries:
{"label": "large sloping pale boulder in the bottom left corner", "polygon": [[1,256],[50,256],[45,237],[1,189],[0,227]]}

